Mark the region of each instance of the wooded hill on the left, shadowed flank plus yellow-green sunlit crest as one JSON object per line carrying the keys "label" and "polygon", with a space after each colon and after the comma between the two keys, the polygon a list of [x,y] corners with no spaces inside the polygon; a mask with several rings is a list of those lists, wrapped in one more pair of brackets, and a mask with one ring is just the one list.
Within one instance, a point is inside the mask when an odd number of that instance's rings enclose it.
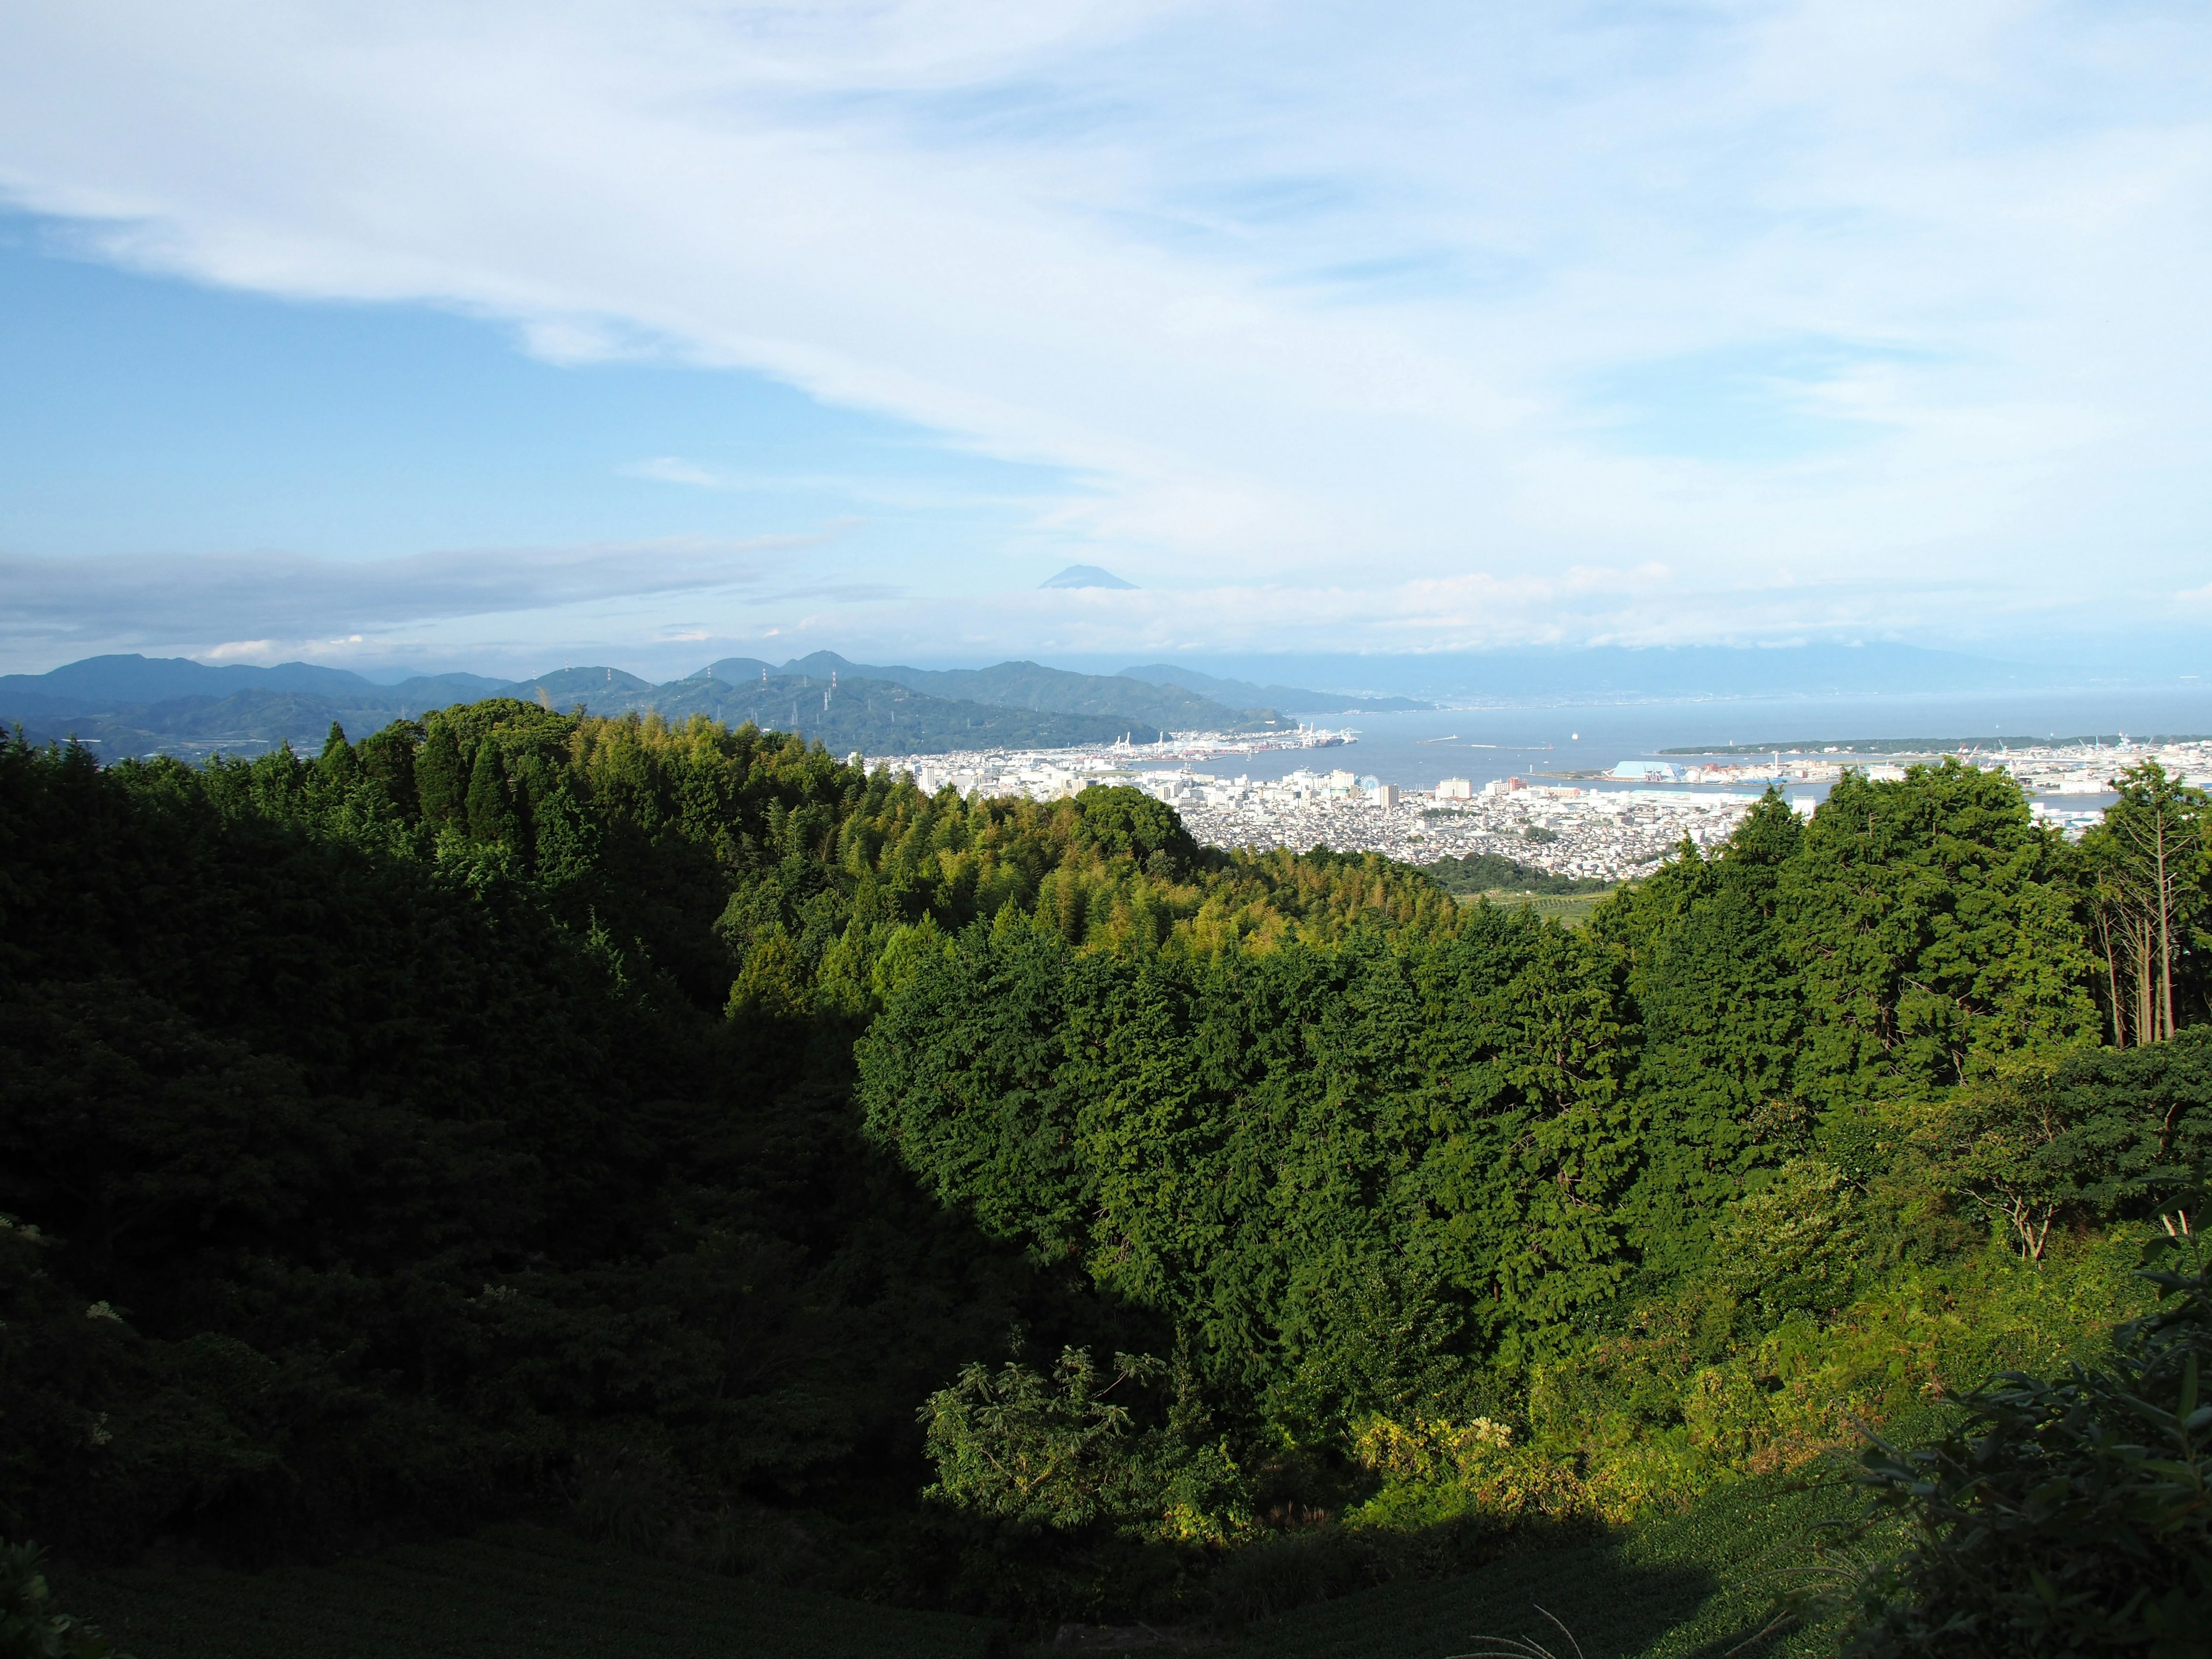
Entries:
{"label": "wooded hill on the left, shadowed flank plus yellow-green sunlit crest", "polygon": [[312,763],[9,745],[0,1520],[259,1559],[597,1467],[666,1471],[670,1533],[896,1511],[916,1402],[1068,1318],[856,1139],[852,1033],[931,940],[1449,911],[1380,860],[1199,856],[1144,807],[520,701]]}

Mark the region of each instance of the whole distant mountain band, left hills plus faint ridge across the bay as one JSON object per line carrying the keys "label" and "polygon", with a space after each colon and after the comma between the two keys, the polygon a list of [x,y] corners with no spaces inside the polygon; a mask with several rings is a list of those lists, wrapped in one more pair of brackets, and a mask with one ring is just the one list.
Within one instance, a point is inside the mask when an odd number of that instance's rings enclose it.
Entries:
{"label": "whole distant mountain band, left hills plus faint ridge across the bay", "polygon": [[[1071,672],[1033,661],[991,668],[856,664],[814,653],[785,664],[723,657],[661,686],[619,668],[535,679],[418,675],[396,686],[316,664],[208,666],[184,657],[88,657],[46,675],[0,677],[0,726],[38,741],[82,737],[102,754],[206,752],[290,741],[319,745],[332,721],[361,734],[480,697],[522,697],[595,714],[659,710],[799,730],[836,752],[929,754],[971,745],[1097,743],[1128,734],[1272,730],[1298,717],[1431,708],[1425,695],[1480,701],[1635,701],[1834,692],[2000,690],[2084,684],[2064,666],[2004,664],[1916,646],[1559,648],[1427,657],[1279,657],[1199,672],[1139,664]],[[1363,686],[1307,690],[1276,675]],[[834,681],[834,688],[832,688]]]}

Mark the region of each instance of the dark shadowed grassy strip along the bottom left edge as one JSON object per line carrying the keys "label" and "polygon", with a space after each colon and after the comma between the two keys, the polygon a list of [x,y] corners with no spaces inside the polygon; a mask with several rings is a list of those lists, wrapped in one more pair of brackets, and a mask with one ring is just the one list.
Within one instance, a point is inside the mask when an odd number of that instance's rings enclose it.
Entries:
{"label": "dark shadowed grassy strip along the bottom left edge", "polygon": [[314,1568],[58,1573],[55,1593],[137,1659],[953,1659],[993,1628],[529,1526]]}

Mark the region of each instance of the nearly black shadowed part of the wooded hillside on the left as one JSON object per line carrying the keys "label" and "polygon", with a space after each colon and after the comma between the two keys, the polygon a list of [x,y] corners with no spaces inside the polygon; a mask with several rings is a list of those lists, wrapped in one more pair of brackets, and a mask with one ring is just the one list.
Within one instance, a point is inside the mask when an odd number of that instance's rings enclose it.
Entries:
{"label": "nearly black shadowed part of the wooded hillside on the left", "polygon": [[[712,896],[686,940],[573,858],[529,885],[529,739],[573,726],[509,730],[471,743],[502,841],[438,856],[383,779],[330,796],[285,754],[0,757],[0,1203],[44,1228],[0,1234],[11,1524],[259,1553],[462,1520],[624,1422],[706,1491],[774,1495],[900,1436],[1015,1312],[1018,1276],[849,1139],[803,1037],[732,1071],[728,967],[686,1013],[661,962],[719,956]],[[639,825],[655,794],[604,823],[633,869],[681,869]],[[900,1307],[938,1338],[885,1343]]]}

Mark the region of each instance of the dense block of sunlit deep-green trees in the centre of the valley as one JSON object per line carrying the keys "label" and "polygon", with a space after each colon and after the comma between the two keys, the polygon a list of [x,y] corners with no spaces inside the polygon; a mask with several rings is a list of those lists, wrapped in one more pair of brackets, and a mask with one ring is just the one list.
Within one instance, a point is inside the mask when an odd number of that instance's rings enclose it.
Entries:
{"label": "dense block of sunlit deep-green trees in the centre of the valley", "polygon": [[894,993],[860,1097],[987,1232],[1312,1429],[1606,1294],[1621,1068],[1601,962],[1524,914],[1217,960],[978,927]]}

